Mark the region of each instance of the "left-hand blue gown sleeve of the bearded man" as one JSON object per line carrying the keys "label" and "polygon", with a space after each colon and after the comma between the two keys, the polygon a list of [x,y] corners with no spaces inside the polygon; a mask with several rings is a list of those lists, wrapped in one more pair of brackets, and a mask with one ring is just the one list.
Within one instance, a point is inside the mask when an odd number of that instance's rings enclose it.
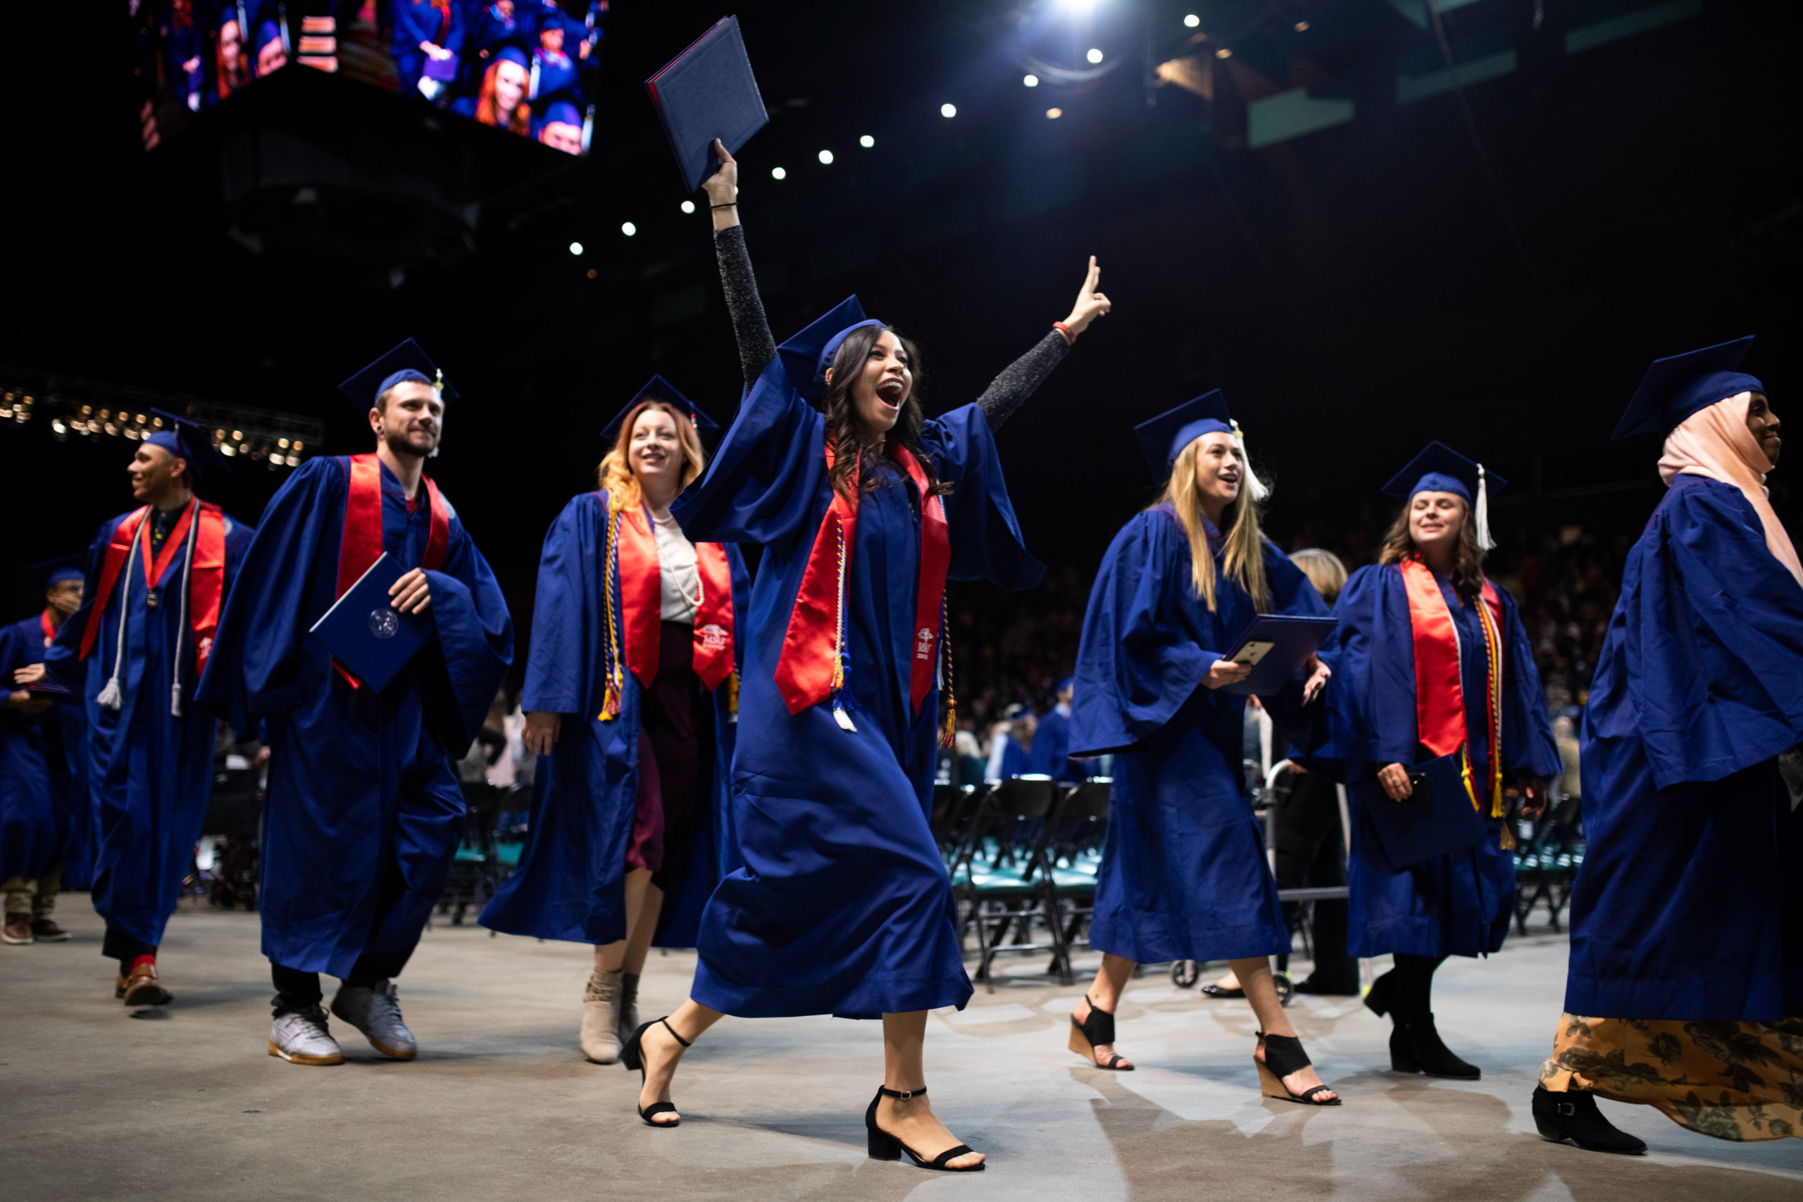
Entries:
{"label": "left-hand blue gown sleeve of the bearded man", "polygon": [[[339,461],[308,460],[269,499],[256,532],[238,541],[242,551],[198,701],[240,737],[254,733],[258,715],[301,701],[310,582],[343,494]],[[233,562],[233,539],[225,560]]]}

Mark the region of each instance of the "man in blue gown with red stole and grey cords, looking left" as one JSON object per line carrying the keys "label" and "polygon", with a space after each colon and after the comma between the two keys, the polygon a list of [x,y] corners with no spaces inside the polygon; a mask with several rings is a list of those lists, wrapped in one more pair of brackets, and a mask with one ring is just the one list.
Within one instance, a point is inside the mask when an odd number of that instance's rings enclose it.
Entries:
{"label": "man in blue gown with red stole and grey cords, looking left", "polygon": [[49,678],[87,705],[94,908],[126,1006],[169,1000],[157,946],[213,788],[215,723],[193,694],[252,533],[195,496],[225,470],[206,431],[157,418],[126,469],[142,506],[101,524],[81,609],[43,656]]}

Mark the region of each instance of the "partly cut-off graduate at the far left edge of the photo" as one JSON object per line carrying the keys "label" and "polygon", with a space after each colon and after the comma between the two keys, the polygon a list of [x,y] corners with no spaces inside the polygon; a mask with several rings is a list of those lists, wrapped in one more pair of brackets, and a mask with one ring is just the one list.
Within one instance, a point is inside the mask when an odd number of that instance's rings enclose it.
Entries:
{"label": "partly cut-off graduate at the far left edge of the photo", "polygon": [[81,697],[34,694],[13,674],[40,663],[56,631],[81,607],[81,555],[31,566],[43,609],[0,627],[0,896],[5,942],[63,942],[50,917],[67,881],[87,888],[87,777]]}

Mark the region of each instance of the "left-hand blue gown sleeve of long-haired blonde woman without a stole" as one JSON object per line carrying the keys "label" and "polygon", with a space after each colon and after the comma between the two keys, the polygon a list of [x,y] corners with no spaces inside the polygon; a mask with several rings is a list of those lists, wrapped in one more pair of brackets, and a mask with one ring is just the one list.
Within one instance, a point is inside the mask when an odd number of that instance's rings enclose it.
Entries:
{"label": "left-hand blue gown sleeve of long-haired blonde woman without a stole", "polygon": [[1084,613],[1071,755],[1125,751],[1156,735],[1224,654],[1177,620],[1185,587],[1188,544],[1170,517],[1149,510],[1114,535]]}

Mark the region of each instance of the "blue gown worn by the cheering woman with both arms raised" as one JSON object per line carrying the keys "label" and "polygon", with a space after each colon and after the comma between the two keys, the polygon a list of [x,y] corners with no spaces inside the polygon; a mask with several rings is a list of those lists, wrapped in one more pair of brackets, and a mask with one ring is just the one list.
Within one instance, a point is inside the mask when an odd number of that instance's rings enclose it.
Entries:
{"label": "blue gown worn by the cheering woman with both arms raised", "polygon": [[[887,456],[858,503],[846,625],[851,665],[842,730],[828,703],[790,714],[775,685],[815,533],[831,503],[826,418],[764,368],[707,476],[671,512],[694,541],[759,542],[739,690],[732,811],[745,867],[701,917],[694,1000],[748,1018],[874,1016],[970,1000],[952,879],[927,827],[938,688],[909,701],[920,499]],[[952,580],[1020,589],[1044,568],[1026,553],[988,418],[975,405],[921,427],[950,526]]]}

